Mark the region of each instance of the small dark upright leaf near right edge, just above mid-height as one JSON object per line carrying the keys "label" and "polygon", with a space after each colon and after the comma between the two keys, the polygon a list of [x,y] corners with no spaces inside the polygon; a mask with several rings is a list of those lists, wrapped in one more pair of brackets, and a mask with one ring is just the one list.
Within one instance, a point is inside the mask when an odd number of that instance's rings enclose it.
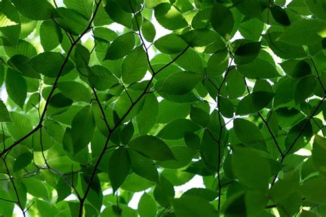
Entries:
{"label": "small dark upright leaf near right edge, just above mid-height", "polygon": [[296,84],[296,90],[294,92],[294,101],[296,104],[304,102],[310,95],[313,94],[313,91],[316,87],[316,79],[314,76],[305,76],[298,81]]}

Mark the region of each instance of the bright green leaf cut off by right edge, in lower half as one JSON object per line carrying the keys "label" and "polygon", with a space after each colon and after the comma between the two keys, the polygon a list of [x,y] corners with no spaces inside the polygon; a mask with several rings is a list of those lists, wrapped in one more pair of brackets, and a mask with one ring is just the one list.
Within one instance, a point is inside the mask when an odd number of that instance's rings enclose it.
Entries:
{"label": "bright green leaf cut off by right edge, in lower half", "polygon": [[320,174],[326,174],[326,139],[315,135],[312,147],[312,162],[319,170]]}

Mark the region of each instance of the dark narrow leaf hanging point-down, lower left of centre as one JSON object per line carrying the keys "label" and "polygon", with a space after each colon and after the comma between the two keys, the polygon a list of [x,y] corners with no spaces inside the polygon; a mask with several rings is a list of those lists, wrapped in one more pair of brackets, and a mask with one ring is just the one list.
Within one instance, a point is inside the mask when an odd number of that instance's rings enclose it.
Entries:
{"label": "dark narrow leaf hanging point-down, lower left of centre", "polygon": [[130,157],[126,148],[122,147],[113,151],[109,160],[109,178],[113,188],[113,194],[126,179],[130,166]]}

